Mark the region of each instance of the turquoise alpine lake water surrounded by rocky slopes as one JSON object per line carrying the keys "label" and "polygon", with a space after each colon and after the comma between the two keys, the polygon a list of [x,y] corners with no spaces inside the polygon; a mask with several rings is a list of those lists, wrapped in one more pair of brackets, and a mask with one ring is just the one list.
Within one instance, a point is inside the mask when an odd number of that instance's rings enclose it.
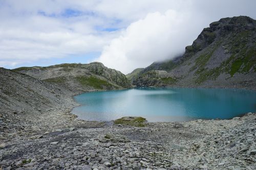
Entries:
{"label": "turquoise alpine lake water surrounded by rocky slopes", "polygon": [[148,122],[228,119],[256,111],[256,92],[239,89],[135,88],[77,95],[81,119],[109,121],[142,116]]}

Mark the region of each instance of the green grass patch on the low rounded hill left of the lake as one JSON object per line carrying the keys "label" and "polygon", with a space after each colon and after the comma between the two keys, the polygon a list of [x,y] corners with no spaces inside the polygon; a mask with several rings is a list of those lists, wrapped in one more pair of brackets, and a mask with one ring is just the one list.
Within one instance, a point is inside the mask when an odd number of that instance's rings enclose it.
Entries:
{"label": "green grass patch on the low rounded hill left of the lake", "polygon": [[117,86],[105,81],[101,80],[96,77],[84,77],[84,76],[78,76],[76,77],[76,80],[82,85],[82,86],[90,86],[95,89],[103,90],[103,89],[116,89]]}

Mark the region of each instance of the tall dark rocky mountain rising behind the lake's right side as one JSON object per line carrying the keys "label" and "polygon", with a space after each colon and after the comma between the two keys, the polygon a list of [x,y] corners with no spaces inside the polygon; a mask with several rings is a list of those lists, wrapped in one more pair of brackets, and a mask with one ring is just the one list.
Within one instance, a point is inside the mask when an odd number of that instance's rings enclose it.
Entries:
{"label": "tall dark rocky mountain rising behind the lake's right side", "polygon": [[136,86],[256,89],[256,20],[222,18],[203,29],[185,53],[139,71]]}

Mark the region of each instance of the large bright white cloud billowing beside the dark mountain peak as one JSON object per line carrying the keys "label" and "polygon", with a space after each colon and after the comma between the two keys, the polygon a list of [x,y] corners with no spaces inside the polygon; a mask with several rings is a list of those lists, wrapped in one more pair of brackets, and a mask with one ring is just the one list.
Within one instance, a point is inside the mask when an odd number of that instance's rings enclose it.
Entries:
{"label": "large bright white cloud billowing beside the dark mountain peak", "polygon": [[187,39],[193,30],[185,27],[189,19],[186,13],[174,10],[147,14],[106,45],[97,61],[127,74],[154,61],[171,59],[191,43]]}

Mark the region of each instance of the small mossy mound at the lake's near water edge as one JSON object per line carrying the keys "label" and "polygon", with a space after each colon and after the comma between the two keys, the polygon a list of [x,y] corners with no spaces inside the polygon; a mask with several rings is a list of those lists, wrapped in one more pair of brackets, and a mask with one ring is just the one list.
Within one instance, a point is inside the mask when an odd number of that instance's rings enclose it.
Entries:
{"label": "small mossy mound at the lake's near water edge", "polygon": [[122,117],[116,119],[114,124],[130,125],[136,127],[145,127],[146,119],[143,117]]}

